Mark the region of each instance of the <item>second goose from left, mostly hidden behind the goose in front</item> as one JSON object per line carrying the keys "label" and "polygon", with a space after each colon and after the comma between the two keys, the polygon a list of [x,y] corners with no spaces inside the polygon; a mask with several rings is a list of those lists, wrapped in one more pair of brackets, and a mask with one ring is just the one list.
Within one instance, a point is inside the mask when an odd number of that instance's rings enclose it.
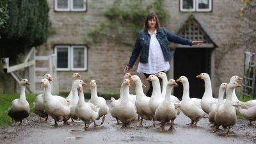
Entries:
{"label": "second goose from left, mostly hidden behind the goose in front", "polygon": [[[49,81],[53,81],[52,76],[50,74],[45,74],[44,78],[48,79]],[[47,122],[48,114],[46,113],[46,111],[44,109],[44,95],[43,94],[37,95],[35,102],[33,102],[33,104],[34,104],[33,113],[35,113],[36,115],[39,116],[38,122],[42,122],[41,118],[45,118],[44,122]]]}

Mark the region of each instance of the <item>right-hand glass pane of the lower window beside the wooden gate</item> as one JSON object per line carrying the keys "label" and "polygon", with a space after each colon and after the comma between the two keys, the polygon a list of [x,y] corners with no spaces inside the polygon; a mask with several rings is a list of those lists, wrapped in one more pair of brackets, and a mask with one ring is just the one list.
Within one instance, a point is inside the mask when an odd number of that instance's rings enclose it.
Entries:
{"label": "right-hand glass pane of the lower window beside the wooden gate", "polygon": [[74,48],[73,68],[84,68],[84,48]]}

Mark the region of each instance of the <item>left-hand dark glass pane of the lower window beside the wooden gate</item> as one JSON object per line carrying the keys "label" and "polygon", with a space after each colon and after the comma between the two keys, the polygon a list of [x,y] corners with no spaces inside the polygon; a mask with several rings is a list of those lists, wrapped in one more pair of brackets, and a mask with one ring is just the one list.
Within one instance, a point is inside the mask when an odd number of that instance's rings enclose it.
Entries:
{"label": "left-hand dark glass pane of the lower window beside the wooden gate", "polygon": [[57,49],[57,67],[68,68],[68,49],[60,48]]}

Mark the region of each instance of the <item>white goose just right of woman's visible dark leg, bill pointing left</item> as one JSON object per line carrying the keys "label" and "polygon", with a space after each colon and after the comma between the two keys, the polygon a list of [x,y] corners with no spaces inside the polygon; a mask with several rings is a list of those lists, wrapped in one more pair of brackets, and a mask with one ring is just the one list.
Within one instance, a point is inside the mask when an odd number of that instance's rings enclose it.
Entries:
{"label": "white goose just right of woman's visible dark leg, bill pointing left", "polygon": [[[149,108],[151,113],[155,115],[157,107],[163,102],[164,98],[161,94],[161,86],[158,77],[152,74],[148,76],[147,81],[152,81],[153,85],[153,92],[149,100]],[[153,118],[153,125],[155,126],[155,118]]]}

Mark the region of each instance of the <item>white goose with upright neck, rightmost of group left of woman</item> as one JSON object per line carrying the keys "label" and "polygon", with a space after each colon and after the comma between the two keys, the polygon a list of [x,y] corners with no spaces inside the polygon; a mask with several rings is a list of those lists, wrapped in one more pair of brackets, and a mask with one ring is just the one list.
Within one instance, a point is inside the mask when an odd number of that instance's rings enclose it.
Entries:
{"label": "white goose with upright neck, rightmost of group left of woman", "polygon": [[101,121],[101,124],[103,124],[105,121],[105,116],[109,113],[107,102],[103,97],[99,97],[97,95],[97,84],[94,79],[92,79],[92,81],[90,82],[90,89],[91,99],[89,100],[89,102],[100,108],[99,118],[103,116]]}

